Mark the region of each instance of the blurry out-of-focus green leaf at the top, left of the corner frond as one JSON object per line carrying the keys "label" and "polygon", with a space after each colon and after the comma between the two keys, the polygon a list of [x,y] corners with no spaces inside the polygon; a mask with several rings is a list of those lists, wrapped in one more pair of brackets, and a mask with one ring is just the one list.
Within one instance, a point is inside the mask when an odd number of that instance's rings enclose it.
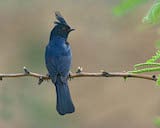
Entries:
{"label": "blurry out-of-focus green leaf at the top, left of the corner frond", "polygon": [[148,0],[122,0],[119,5],[113,8],[113,14],[116,16],[122,16],[147,1]]}

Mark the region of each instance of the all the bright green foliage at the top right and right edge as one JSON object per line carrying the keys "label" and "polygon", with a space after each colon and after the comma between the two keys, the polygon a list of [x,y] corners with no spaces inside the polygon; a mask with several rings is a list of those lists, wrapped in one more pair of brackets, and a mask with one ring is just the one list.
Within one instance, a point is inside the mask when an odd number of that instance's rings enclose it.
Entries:
{"label": "all the bright green foliage at the top right and right edge", "polygon": [[[147,0],[122,0],[122,2],[113,9],[113,13],[116,16],[122,16],[133,10],[136,6],[147,2]],[[160,0],[155,0],[151,8],[148,10],[146,16],[143,18],[143,23],[147,24],[159,24],[160,23]],[[160,48],[160,40],[156,41],[156,48]],[[157,50],[155,55],[148,59],[144,63],[134,65],[134,70],[130,73],[145,73],[145,72],[159,72],[160,63],[160,50]],[[157,85],[160,86],[160,74],[157,76]],[[160,127],[160,117],[154,120],[154,124]]]}

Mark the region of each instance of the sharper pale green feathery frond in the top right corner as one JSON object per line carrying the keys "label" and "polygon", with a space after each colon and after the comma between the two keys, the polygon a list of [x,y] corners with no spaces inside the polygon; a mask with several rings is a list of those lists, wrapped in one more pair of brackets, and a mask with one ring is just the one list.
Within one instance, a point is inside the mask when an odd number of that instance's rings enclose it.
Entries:
{"label": "sharper pale green feathery frond in the top right corner", "polygon": [[157,0],[143,18],[144,23],[158,24],[160,23],[160,0]]}

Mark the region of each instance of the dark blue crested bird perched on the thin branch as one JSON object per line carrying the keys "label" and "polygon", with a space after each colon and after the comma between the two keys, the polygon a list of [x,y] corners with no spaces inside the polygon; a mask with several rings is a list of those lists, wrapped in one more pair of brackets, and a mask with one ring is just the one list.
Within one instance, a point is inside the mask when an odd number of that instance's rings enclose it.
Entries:
{"label": "dark blue crested bird perched on the thin branch", "polygon": [[75,111],[68,86],[72,53],[67,41],[69,33],[75,29],[68,25],[60,12],[56,11],[55,17],[57,21],[45,50],[45,64],[56,88],[56,110],[60,115],[65,115]]}

